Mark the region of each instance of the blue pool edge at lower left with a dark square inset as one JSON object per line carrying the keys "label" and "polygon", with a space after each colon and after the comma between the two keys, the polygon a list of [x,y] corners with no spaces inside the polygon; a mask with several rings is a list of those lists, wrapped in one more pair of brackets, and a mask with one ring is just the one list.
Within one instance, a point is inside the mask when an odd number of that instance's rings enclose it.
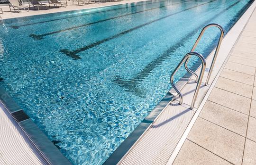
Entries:
{"label": "blue pool edge at lower left with a dark square inset", "polygon": [[72,165],[46,134],[0,86],[0,107],[5,108],[50,165]]}

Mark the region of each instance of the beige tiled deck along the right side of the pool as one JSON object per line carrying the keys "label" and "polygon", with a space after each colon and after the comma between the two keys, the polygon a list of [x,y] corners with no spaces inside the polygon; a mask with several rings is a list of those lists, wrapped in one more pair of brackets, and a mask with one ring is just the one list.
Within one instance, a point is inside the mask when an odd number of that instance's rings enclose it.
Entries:
{"label": "beige tiled deck along the right side of the pool", "polygon": [[256,11],[174,165],[256,164]]}

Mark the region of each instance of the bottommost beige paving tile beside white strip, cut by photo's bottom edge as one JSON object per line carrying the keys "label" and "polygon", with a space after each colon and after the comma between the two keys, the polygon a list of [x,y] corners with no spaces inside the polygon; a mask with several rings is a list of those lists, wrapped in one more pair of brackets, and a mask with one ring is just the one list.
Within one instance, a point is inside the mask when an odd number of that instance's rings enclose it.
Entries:
{"label": "bottommost beige paving tile beside white strip, cut by photo's bottom edge", "polygon": [[195,143],[185,140],[173,165],[231,165]]}

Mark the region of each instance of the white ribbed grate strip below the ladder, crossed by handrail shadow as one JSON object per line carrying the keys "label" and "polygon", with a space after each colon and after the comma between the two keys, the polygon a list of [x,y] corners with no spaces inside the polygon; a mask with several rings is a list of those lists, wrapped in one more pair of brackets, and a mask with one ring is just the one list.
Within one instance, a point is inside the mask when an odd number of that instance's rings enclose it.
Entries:
{"label": "white ribbed grate strip below the ladder, crossed by handrail shadow", "polygon": [[187,128],[195,108],[172,102],[120,165],[165,165]]}

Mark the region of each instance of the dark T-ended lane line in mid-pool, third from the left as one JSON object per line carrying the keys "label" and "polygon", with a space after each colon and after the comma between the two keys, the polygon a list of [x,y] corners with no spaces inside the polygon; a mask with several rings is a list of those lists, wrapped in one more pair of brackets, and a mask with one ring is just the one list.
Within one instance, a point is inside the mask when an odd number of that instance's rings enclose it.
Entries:
{"label": "dark T-ended lane line in mid-pool, third from the left", "polygon": [[76,60],[76,59],[81,59],[81,58],[77,55],[77,53],[80,53],[80,52],[85,51],[85,50],[87,50],[87,49],[93,48],[93,47],[95,47],[95,46],[97,46],[97,45],[100,45],[100,44],[103,43],[103,42],[110,41],[110,40],[112,40],[112,39],[118,38],[118,37],[120,37],[120,36],[122,36],[122,35],[124,35],[124,34],[126,34],[126,33],[132,32],[132,31],[134,31],[134,30],[136,30],[136,29],[138,29],[138,28],[141,28],[141,27],[143,27],[143,26],[152,24],[152,23],[154,23],[154,22],[156,22],[156,21],[165,19],[165,18],[167,18],[167,17],[169,17],[169,16],[174,16],[174,15],[176,15],[176,14],[182,13],[183,11],[186,11],[186,10],[189,10],[189,9],[192,9],[192,8],[197,8],[197,7],[199,7],[199,6],[202,6],[202,5],[211,3],[211,2],[213,2],[213,1],[216,1],[216,0],[211,0],[211,1],[209,1],[209,2],[200,4],[200,5],[191,7],[191,8],[186,8],[186,9],[184,9],[184,10],[182,10],[182,11],[178,11],[178,12],[176,12],[176,13],[173,13],[173,14],[170,14],[170,15],[167,15],[167,16],[164,16],[164,17],[155,19],[155,20],[153,20],[153,21],[147,22],[147,23],[145,23],[145,24],[136,26],[136,27],[131,28],[131,29],[129,29],[129,30],[126,30],[126,31],[124,31],[124,32],[121,32],[121,33],[118,33],[118,34],[116,34],[116,35],[113,35],[113,36],[111,36],[111,37],[109,37],[109,38],[103,39],[103,40],[101,40],[101,41],[94,42],[94,43],[92,43],[92,44],[90,44],[90,45],[87,45],[87,46],[85,46],[85,47],[82,47],[82,48],[80,48],[80,49],[76,49],[76,50],[73,50],[73,51],[70,51],[70,50],[68,50],[68,49],[61,49],[60,52],[62,52],[62,53],[64,53],[65,55],[67,55],[67,56],[73,58],[74,60]]}

